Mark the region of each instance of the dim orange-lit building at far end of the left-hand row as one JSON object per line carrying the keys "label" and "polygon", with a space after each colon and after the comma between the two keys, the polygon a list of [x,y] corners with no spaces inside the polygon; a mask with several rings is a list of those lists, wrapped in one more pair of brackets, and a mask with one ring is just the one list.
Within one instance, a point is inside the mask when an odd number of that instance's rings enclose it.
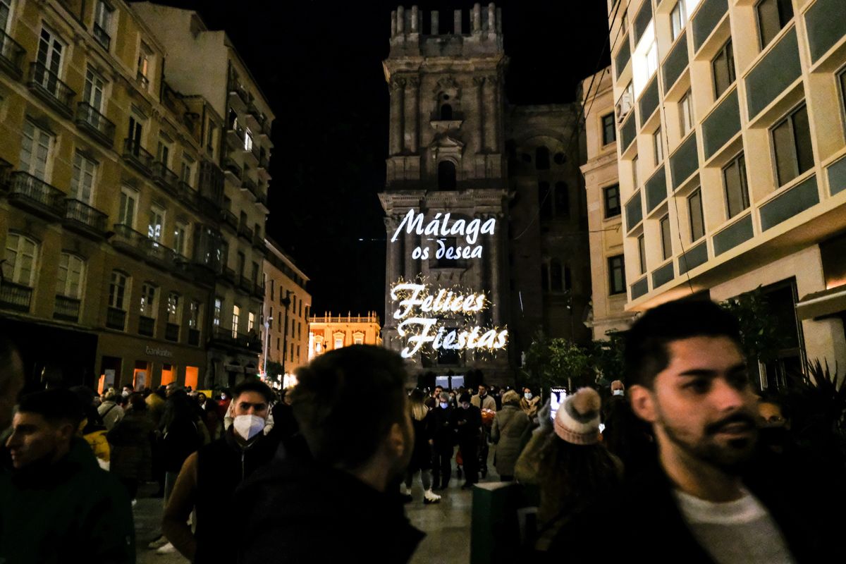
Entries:
{"label": "dim orange-lit building at far end of the left-hand row", "polygon": [[309,277],[277,243],[265,239],[265,244],[261,342],[267,362],[279,364],[282,375],[288,375],[309,361]]}

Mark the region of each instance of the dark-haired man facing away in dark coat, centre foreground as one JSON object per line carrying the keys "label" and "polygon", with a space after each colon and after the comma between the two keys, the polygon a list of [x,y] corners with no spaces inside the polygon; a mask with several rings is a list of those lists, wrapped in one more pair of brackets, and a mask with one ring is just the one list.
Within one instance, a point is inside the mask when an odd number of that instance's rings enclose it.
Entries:
{"label": "dark-haired man facing away in dark coat, centre foreground", "polygon": [[236,493],[238,561],[409,561],[424,535],[397,494],[414,446],[403,359],[339,348],[299,368],[297,381],[291,408],[310,457],[277,457]]}

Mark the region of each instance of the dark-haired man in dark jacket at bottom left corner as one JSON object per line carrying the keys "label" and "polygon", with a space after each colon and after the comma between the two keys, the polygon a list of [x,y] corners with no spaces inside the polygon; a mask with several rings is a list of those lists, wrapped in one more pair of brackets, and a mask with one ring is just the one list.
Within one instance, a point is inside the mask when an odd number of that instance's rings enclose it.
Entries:
{"label": "dark-haired man in dark jacket at bottom left corner", "polygon": [[15,564],[135,562],[135,527],[124,488],[75,436],[73,392],[22,397],[0,472],[0,561]]}

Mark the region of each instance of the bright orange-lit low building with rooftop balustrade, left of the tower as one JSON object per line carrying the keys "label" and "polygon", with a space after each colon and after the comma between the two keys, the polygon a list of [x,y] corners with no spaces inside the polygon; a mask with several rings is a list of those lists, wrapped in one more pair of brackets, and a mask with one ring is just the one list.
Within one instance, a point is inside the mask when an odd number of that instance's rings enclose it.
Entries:
{"label": "bright orange-lit low building with rooftop balustrade, left of the tower", "polygon": [[309,320],[309,360],[327,351],[350,345],[382,346],[379,316],[332,315],[311,317]]}

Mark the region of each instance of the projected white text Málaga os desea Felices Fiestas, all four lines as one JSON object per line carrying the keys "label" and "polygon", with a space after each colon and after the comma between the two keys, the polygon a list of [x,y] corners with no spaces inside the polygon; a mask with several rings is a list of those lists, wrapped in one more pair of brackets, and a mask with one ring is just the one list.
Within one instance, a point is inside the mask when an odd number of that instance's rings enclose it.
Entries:
{"label": "projected white text M\u00e1laga os desea Felices Fiestas, all four lines", "polygon": [[[411,250],[413,260],[477,260],[484,249],[482,236],[492,236],[496,229],[495,218],[452,220],[450,213],[437,213],[426,222],[422,213],[409,210],[391,243],[397,244],[404,233],[416,234],[421,244]],[[495,351],[508,342],[505,327],[476,325],[476,316],[491,304],[484,291],[400,280],[391,287],[391,300],[396,305],[393,319],[399,321],[397,333],[406,339],[401,351],[406,359],[442,349]]]}

